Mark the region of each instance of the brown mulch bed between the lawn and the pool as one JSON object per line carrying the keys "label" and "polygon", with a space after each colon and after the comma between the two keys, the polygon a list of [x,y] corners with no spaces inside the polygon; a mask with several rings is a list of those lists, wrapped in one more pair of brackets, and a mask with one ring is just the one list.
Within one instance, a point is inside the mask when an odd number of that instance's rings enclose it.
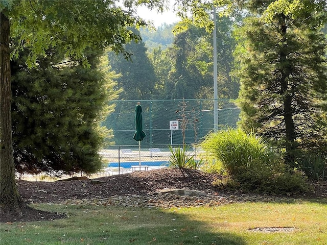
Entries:
{"label": "brown mulch bed between the lawn and the pool", "polygon": [[[101,184],[91,184],[91,180],[72,180],[56,182],[31,182],[17,180],[17,186],[26,204],[61,203],[68,199],[104,199],[113,195],[147,194],[160,189],[192,189],[209,193],[232,194],[230,190],[218,190],[213,181],[222,178],[198,170],[161,168],[150,171],[135,171],[124,175],[97,178]],[[327,198],[327,182],[312,182],[314,191],[294,198]],[[256,193],[258,194],[258,193]],[[293,197],[293,196],[292,196]],[[43,212],[26,206],[20,218],[1,214],[1,222],[52,220],[64,215]]]}

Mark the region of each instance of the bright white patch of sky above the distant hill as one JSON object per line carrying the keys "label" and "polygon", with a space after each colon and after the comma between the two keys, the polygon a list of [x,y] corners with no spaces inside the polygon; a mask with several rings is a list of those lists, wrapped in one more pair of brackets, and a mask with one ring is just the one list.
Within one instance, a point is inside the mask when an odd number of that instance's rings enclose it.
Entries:
{"label": "bright white patch of sky above the distant hill", "polygon": [[139,7],[137,9],[137,13],[145,20],[151,20],[155,27],[159,27],[163,23],[172,24],[180,20],[173,11],[165,11],[161,14],[157,13],[156,10],[149,10],[146,7]]}

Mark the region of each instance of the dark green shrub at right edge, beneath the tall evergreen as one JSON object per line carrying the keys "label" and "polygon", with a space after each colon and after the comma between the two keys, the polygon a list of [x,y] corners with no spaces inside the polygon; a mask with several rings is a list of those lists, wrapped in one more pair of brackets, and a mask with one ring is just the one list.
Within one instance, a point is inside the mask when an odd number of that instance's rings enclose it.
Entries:
{"label": "dark green shrub at right edge, beneath the tall evergreen", "polygon": [[325,152],[308,152],[297,154],[295,167],[314,180],[324,180],[327,175],[327,155]]}

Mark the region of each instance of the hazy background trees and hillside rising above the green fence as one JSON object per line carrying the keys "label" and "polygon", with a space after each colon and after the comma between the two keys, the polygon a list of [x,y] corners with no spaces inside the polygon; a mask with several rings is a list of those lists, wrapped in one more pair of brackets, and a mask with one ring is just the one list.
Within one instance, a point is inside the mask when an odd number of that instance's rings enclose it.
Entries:
{"label": "hazy background trees and hillside rising above the green fence", "polygon": [[[220,98],[236,99],[239,93],[238,78],[231,73],[236,65],[233,52],[237,41],[232,33],[236,18],[242,16],[235,13],[217,19]],[[165,24],[156,32],[143,29],[143,41],[126,44],[132,62],[109,53],[112,69],[122,75],[118,82],[124,89],[121,100],[213,99],[212,33],[196,26],[174,35],[172,31],[173,26]],[[147,92],[141,94],[136,85]]]}

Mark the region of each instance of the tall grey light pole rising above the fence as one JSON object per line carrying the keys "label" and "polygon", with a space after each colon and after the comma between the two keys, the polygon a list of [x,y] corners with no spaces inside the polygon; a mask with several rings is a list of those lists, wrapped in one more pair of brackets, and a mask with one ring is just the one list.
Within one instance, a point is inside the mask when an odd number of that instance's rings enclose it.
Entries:
{"label": "tall grey light pole rising above the fence", "polygon": [[218,131],[218,85],[217,85],[217,24],[214,4],[214,130]]}

